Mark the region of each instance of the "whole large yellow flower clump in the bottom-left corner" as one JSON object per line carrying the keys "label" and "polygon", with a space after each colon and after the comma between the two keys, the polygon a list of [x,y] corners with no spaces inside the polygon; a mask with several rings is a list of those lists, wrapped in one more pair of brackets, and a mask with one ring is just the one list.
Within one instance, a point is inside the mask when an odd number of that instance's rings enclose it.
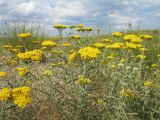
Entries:
{"label": "whole large yellow flower clump in the bottom-left corner", "polygon": [[3,88],[0,91],[0,100],[10,100],[13,101],[19,108],[24,108],[31,103],[31,98],[29,93],[31,91],[30,87],[22,86],[13,89]]}

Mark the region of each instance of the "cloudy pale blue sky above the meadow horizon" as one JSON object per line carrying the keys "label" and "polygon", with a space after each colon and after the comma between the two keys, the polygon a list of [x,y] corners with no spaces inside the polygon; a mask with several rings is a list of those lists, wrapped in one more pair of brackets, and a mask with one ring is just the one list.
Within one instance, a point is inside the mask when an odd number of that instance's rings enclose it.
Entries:
{"label": "cloudy pale blue sky above the meadow horizon", "polygon": [[160,28],[160,0],[0,0],[0,20],[34,21],[52,31],[56,23],[104,30]]}

